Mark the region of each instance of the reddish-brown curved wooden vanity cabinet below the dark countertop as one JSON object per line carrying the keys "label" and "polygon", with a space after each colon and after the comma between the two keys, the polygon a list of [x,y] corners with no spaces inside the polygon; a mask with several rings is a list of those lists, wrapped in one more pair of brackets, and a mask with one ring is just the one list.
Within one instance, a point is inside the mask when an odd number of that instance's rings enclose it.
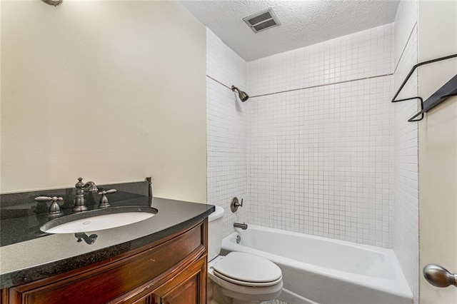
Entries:
{"label": "reddish-brown curved wooden vanity cabinet below the dark countertop", "polygon": [[207,226],[191,228],[109,260],[1,290],[13,303],[206,303]]}

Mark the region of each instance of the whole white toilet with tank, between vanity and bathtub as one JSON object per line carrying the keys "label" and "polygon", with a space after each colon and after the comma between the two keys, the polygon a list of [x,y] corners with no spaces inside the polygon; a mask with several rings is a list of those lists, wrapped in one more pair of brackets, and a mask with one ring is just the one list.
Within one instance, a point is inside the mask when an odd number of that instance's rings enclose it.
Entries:
{"label": "whole white toilet with tank, between vanity and bathtub", "polygon": [[224,208],[208,218],[208,303],[255,304],[274,300],[283,288],[281,269],[266,258],[232,252],[221,256]]}

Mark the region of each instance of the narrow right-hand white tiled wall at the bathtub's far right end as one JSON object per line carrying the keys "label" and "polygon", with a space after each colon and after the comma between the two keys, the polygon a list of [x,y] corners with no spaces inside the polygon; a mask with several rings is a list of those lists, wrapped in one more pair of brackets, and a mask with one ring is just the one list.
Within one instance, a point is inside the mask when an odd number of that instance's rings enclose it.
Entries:
{"label": "narrow right-hand white tiled wall at the bathtub's far right end", "polygon": [[[401,1],[395,22],[396,71],[393,92],[417,64],[417,3]],[[417,73],[403,88],[400,98],[417,96]],[[409,123],[418,111],[417,101],[393,104],[395,156],[394,245],[398,261],[418,303],[418,123]]]}

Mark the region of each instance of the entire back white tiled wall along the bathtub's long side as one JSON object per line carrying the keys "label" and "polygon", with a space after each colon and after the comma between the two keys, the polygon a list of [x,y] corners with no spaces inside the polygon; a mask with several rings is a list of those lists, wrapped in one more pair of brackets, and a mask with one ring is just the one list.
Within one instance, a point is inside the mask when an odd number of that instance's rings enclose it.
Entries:
{"label": "entire back white tiled wall along the bathtub's long side", "polygon": [[393,246],[392,35],[248,62],[252,223]]}

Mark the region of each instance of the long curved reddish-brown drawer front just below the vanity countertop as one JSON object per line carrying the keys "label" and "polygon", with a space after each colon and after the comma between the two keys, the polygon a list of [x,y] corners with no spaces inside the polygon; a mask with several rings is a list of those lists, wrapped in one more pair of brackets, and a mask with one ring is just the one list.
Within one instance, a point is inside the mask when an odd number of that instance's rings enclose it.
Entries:
{"label": "long curved reddish-brown drawer front just below the vanity countertop", "polygon": [[176,233],[132,255],[9,288],[8,303],[107,303],[132,298],[141,288],[162,284],[206,252],[206,223]]}

